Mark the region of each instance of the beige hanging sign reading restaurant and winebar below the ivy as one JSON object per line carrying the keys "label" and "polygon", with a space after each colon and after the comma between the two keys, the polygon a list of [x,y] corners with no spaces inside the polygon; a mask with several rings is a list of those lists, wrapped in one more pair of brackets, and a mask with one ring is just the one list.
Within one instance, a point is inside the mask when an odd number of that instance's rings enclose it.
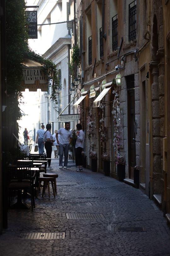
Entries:
{"label": "beige hanging sign reading restaurant and winebar below the ivy", "polygon": [[40,67],[24,67],[22,69],[22,91],[29,89],[29,91],[36,92],[41,89],[42,92],[48,91],[48,78],[44,75]]}

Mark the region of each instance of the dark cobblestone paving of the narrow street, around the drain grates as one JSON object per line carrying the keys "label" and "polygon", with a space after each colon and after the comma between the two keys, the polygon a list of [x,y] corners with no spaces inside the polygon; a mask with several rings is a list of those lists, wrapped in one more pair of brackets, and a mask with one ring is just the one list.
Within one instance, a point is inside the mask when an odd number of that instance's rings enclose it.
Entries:
{"label": "dark cobblestone paving of the narrow street, around the drain grates", "polygon": [[[169,256],[170,229],[163,213],[139,189],[104,174],[76,168],[50,173],[59,182],[54,198],[50,188],[36,199],[36,208],[9,209],[8,229],[0,236],[0,255],[59,256]],[[64,184],[64,183],[63,183]],[[29,200],[27,201],[29,202]],[[66,213],[103,214],[104,219],[67,219]],[[116,227],[144,227],[146,231],[115,231]],[[65,239],[24,240],[21,232],[65,232]]]}

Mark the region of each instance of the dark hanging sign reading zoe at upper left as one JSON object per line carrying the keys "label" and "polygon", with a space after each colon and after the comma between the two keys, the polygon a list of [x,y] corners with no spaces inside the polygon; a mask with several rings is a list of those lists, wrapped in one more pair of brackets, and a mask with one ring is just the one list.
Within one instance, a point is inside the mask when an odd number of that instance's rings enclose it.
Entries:
{"label": "dark hanging sign reading zoe at upper left", "polygon": [[29,38],[38,38],[37,34],[37,11],[26,11],[26,22],[28,23]]}

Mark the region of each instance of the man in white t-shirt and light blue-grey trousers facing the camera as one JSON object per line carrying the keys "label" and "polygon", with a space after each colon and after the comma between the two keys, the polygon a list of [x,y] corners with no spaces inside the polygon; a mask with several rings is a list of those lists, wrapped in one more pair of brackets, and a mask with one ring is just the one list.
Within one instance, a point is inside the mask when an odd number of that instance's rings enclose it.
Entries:
{"label": "man in white t-shirt and light blue-grey trousers facing the camera", "polygon": [[[60,137],[58,137],[60,135]],[[67,169],[68,152],[72,141],[72,131],[70,123],[65,122],[65,128],[60,128],[56,133],[57,143],[59,144],[59,169],[63,168],[63,153],[64,153],[64,169]],[[59,139],[60,138],[60,139]]]}

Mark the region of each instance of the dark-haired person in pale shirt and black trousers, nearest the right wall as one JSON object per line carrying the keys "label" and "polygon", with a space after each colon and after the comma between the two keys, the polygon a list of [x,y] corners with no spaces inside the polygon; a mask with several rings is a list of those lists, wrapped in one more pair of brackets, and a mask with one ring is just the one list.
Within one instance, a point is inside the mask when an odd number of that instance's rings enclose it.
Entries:
{"label": "dark-haired person in pale shirt and black trousers, nearest the right wall", "polygon": [[77,139],[76,139],[76,145],[75,145],[75,158],[76,158],[76,166],[77,172],[82,171],[82,166],[83,166],[83,157],[82,157],[82,150],[84,148],[84,131],[82,130],[82,125],[77,124]]}

